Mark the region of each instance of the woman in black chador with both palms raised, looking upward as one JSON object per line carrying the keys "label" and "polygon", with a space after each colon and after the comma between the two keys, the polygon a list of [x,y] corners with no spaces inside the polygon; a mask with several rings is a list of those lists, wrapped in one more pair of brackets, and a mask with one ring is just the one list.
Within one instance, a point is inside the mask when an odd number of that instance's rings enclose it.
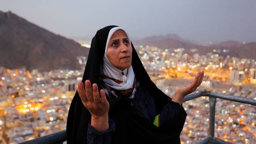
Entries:
{"label": "woman in black chador with both palms raised, looking upward", "polygon": [[68,112],[68,144],[180,144],[187,116],[182,100],[203,75],[171,99],[150,80],[123,28],[98,30]]}

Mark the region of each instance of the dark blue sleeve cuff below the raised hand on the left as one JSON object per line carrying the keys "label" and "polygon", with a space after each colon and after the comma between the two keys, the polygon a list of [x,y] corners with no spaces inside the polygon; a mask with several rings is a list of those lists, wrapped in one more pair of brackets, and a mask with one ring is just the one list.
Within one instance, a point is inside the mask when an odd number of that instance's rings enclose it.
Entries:
{"label": "dark blue sleeve cuff below the raised hand on the left", "polygon": [[104,132],[97,132],[88,124],[87,129],[87,144],[111,144],[111,132],[115,130],[115,122],[111,118],[108,120],[109,128]]}

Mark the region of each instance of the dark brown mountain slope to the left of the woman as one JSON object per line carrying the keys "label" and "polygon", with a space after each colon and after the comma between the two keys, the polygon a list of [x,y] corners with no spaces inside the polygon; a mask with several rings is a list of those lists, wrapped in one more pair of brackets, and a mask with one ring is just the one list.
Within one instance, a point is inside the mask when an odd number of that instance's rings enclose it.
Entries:
{"label": "dark brown mountain slope to the left of the woman", "polygon": [[88,56],[89,48],[54,34],[12,12],[0,11],[0,66],[80,69],[77,56]]}

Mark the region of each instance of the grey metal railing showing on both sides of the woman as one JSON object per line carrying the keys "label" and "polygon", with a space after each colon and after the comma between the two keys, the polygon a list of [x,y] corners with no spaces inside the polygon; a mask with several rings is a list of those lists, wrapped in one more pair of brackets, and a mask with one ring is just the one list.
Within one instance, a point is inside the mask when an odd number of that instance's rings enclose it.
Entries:
{"label": "grey metal railing showing on both sides of the woman", "polygon": [[[230,100],[234,102],[241,102],[244,104],[252,104],[254,106],[256,106],[256,100],[253,100],[250,98],[241,98],[238,96],[232,96],[227,94],[221,94],[217,92],[201,91],[201,92],[196,92],[196,93],[185,96],[183,99],[183,102],[186,102],[188,100],[192,100],[195,98],[199,98],[201,96],[209,97],[209,102],[210,102],[209,134],[210,136],[208,136],[207,138],[204,138],[202,141],[198,142],[197,144],[232,144],[230,142],[226,142],[224,140],[214,137],[216,98],[220,98],[223,100]],[[62,142],[64,141],[66,141],[66,130],[63,130],[61,132],[57,132],[54,134],[50,134],[47,136],[42,136],[40,138],[36,138],[26,142],[22,142],[20,144],[62,144]]]}

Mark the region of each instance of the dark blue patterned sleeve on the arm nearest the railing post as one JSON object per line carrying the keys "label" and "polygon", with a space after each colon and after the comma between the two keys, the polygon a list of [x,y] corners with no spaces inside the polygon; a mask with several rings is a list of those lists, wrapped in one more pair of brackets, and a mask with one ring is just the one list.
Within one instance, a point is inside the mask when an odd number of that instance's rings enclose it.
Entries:
{"label": "dark blue patterned sleeve on the arm nearest the railing post", "polygon": [[178,113],[183,109],[182,104],[180,105],[178,102],[174,102],[170,100],[166,103],[161,110],[160,113],[160,125],[164,124],[174,116],[178,115]]}

